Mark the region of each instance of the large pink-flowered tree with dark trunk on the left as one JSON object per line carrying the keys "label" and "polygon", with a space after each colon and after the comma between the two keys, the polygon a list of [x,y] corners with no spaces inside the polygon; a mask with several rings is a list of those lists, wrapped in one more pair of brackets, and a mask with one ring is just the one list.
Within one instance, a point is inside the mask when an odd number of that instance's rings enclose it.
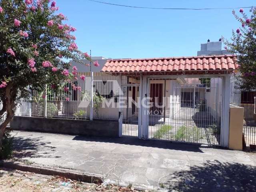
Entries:
{"label": "large pink-flowered tree with dark trunk on the left", "polygon": [[90,60],[74,42],[76,28],[64,24],[66,17],[57,10],[55,1],[0,0],[0,118],[6,115],[0,121],[0,150],[20,98],[46,84],[72,81],[77,74],[70,72],[69,61]]}

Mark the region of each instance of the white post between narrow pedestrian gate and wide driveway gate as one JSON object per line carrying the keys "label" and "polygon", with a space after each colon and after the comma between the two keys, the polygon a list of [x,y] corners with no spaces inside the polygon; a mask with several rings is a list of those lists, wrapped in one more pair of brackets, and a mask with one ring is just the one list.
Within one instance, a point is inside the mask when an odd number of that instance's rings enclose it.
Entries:
{"label": "white post between narrow pedestrian gate and wide driveway gate", "polygon": [[142,98],[142,112],[141,112],[141,118],[143,119],[142,121],[142,127],[141,127],[141,139],[147,139],[148,138],[148,109],[145,108],[146,100],[145,98],[148,97],[147,95],[147,78],[143,76],[142,78],[142,93],[141,93],[141,98]]}

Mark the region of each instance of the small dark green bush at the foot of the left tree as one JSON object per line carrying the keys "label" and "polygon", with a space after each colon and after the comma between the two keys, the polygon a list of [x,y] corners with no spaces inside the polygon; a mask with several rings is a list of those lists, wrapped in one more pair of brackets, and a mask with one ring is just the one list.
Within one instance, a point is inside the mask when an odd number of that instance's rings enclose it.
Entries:
{"label": "small dark green bush at the foot of the left tree", "polygon": [[0,150],[0,159],[8,159],[12,156],[12,143],[13,137],[10,135],[10,129],[6,129],[4,132],[2,149]]}

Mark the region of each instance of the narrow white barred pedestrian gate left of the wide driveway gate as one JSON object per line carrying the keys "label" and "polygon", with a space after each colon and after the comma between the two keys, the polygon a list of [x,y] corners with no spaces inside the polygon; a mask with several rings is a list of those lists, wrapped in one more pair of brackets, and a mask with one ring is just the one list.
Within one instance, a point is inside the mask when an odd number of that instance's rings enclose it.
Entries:
{"label": "narrow white barred pedestrian gate left of the wide driveway gate", "polygon": [[122,136],[138,137],[138,97],[138,85],[122,86],[119,98]]}

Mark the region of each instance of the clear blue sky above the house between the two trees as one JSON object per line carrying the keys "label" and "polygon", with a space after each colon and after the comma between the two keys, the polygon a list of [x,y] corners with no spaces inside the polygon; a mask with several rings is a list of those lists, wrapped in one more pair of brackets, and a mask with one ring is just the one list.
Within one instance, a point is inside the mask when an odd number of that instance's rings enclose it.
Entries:
{"label": "clear blue sky above the house between the two trees", "polygon": [[[255,0],[102,0],[131,6],[216,8],[256,6]],[[230,38],[239,27],[232,10],[148,10],[88,0],[56,0],[78,48],[106,58],[196,56],[208,38]],[[249,12],[249,9],[244,9]],[[239,12],[239,10],[236,10]]]}

